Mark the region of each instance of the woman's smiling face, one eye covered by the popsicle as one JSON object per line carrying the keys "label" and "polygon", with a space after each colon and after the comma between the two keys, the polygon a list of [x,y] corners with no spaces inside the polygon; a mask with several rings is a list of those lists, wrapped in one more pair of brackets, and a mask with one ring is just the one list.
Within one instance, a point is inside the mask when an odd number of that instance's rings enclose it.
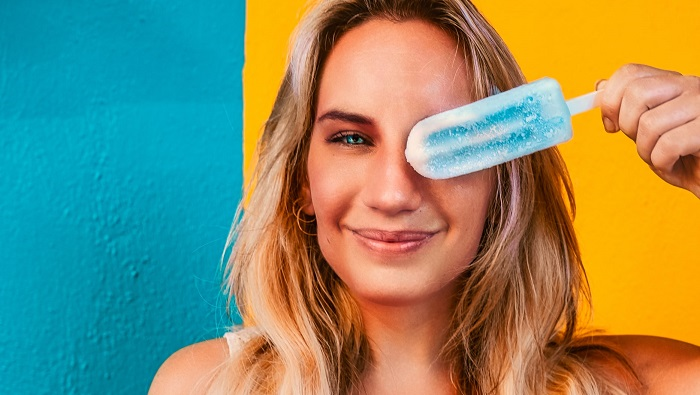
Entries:
{"label": "woman's smiling face, one eye covered by the popsicle", "polygon": [[371,20],[346,33],[321,73],[304,211],[360,302],[447,300],[474,259],[492,169],[448,180],[406,162],[421,119],[472,101],[456,42],[422,21]]}

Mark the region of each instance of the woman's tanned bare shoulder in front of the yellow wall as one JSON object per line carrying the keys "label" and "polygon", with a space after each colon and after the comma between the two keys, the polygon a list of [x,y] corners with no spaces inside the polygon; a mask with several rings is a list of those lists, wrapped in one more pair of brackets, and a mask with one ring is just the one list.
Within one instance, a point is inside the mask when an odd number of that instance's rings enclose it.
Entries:
{"label": "woman's tanned bare shoulder in front of the yellow wall", "polygon": [[700,394],[700,347],[655,336],[601,336],[620,350],[647,394]]}

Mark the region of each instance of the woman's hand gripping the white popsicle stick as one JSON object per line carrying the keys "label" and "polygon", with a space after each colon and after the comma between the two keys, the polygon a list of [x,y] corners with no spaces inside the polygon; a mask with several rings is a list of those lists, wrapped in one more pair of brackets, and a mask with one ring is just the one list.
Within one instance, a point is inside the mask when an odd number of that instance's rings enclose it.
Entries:
{"label": "woman's hand gripping the white popsicle stick", "polygon": [[630,64],[596,89],[605,130],[622,131],[659,177],[700,198],[700,78]]}

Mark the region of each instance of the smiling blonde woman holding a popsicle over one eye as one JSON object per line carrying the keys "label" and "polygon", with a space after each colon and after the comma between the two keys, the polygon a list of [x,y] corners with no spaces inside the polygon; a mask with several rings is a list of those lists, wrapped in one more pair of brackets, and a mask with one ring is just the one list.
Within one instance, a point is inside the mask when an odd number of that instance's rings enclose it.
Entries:
{"label": "smiling blonde woman holding a popsicle over one eye", "polygon": [[[606,130],[700,197],[698,81],[626,66],[597,100]],[[581,331],[555,148],[448,180],[406,162],[416,122],[522,83],[467,0],[319,4],[231,233],[246,329],[174,354],[151,393],[700,392],[698,347]]]}

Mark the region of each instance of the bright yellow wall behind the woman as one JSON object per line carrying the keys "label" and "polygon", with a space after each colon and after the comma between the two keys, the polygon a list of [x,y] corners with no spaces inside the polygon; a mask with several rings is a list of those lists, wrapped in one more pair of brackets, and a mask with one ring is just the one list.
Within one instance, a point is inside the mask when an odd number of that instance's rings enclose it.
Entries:
{"label": "bright yellow wall behind the woman", "polygon": [[[246,34],[246,170],[281,79],[302,0],[250,1]],[[556,78],[567,97],[624,63],[700,75],[700,2],[475,0],[528,80]],[[632,5],[634,4],[634,5]],[[574,118],[560,146],[574,181],[576,228],[593,292],[593,325],[700,344],[700,201],[666,185],[597,112]]]}

